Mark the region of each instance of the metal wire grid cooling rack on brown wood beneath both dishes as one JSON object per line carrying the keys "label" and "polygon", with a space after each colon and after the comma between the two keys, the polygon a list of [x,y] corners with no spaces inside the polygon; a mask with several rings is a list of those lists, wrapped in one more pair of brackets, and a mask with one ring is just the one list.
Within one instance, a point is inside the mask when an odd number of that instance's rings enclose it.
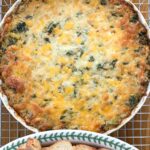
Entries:
{"label": "metal wire grid cooling rack on brown wood beneath both dishes", "polygon": [[[150,26],[150,0],[132,0]],[[0,0],[0,19],[15,0]],[[16,138],[30,134],[7,112],[0,101],[0,147]],[[150,96],[138,114],[111,136],[126,141],[140,150],[150,150]]]}

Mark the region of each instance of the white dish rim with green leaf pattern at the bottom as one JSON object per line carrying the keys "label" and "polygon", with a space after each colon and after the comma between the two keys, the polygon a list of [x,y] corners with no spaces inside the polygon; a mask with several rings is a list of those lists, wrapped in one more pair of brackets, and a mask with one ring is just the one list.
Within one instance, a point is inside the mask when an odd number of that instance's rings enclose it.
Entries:
{"label": "white dish rim with green leaf pattern at the bottom", "polygon": [[0,148],[0,150],[16,150],[21,144],[26,143],[28,138],[36,138],[42,144],[51,144],[59,140],[69,140],[73,143],[84,143],[96,147],[107,147],[111,150],[138,150],[134,146],[119,139],[82,130],[54,130],[31,134]]}

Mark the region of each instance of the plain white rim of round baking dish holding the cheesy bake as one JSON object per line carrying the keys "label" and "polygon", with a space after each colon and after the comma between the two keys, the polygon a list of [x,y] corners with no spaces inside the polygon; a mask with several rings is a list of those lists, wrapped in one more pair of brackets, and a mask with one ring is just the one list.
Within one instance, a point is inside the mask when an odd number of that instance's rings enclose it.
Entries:
{"label": "plain white rim of round baking dish holding the cheesy bake", "polygon": [[[138,10],[138,8],[129,0],[125,0],[128,4],[130,4],[133,9],[138,13],[139,15],[139,19],[140,22],[143,24],[143,26],[147,29],[147,36],[150,39],[150,30],[149,27],[143,17],[143,15],[141,14],[141,12]],[[20,5],[20,3],[22,2],[22,0],[17,0],[14,5],[9,9],[9,11],[6,13],[6,15],[4,16],[3,20],[0,23],[0,30],[3,30],[4,24],[6,22],[7,17],[15,12],[15,10],[17,9],[17,7]],[[2,82],[1,82],[2,84]],[[110,134],[114,131],[117,131],[118,129],[120,129],[122,126],[124,126],[127,122],[129,122],[136,114],[137,112],[141,109],[141,107],[143,106],[143,104],[145,103],[148,95],[150,93],[150,83],[148,85],[147,91],[145,93],[145,95],[141,98],[141,100],[139,101],[138,105],[133,109],[133,111],[131,112],[130,116],[128,116],[126,119],[124,119],[121,124],[119,126],[117,126],[114,129],[108,130],[107,132],[105,132],[104,134]],[[0,92],[0,99],[2,100],[4,106],[6,107],[6,109],[10,112],[10,114],[18,121],[20,122],[24,127],[26,127],[27,129],[33,131],[33,132],[39,132],[38,129],[29,126],[26,124],[26,122],[15,112],[15,110],[9,105],[8,103],[8,99],[7,96],[3,94],[3,92]]]}

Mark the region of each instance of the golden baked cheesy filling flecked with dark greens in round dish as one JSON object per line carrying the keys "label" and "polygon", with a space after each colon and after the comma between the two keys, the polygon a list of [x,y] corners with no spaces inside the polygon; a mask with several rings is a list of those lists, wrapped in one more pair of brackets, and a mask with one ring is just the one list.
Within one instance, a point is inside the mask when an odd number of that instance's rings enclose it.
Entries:
{"label": "golden baked cheesy filling flecked with dark greens in round dish", "polygon": [[2,88],[28,125],[104,132],[145,93],[149,40],[124,0],[30,0],[10,18]]}

